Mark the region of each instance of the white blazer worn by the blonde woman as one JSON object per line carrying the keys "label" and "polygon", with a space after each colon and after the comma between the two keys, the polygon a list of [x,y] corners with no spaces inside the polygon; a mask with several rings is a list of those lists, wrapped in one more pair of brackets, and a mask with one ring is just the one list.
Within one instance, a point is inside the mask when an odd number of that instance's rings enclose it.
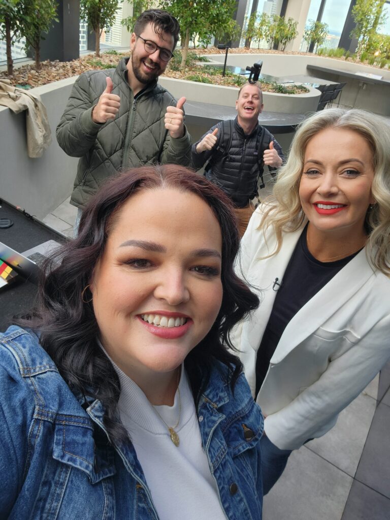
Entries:
{"label": "white blazer worn by the blonde woman", "polygon": [[[232,334],[255,393],[256,353],[276,292],[302,229],[283,234],[278,254],[271,233],[256,229],[259,209],[241,240],[236,271],[252,284],[261,304]],[[297,449],[334,426],[337,415],[390,358],[390,279],[360,251],[291,319],[280,338],[257,402],[265,432],[280,449]],[[255,397],[255,396],[254,396]]]}

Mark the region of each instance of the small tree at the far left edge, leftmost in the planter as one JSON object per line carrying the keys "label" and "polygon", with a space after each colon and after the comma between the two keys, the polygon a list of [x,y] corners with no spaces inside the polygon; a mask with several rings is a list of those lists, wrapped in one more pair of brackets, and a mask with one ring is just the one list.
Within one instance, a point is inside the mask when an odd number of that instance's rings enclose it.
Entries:
{"label": "small tree at the far left edge, leftmost in the planter", "polygon": [[19,0],[1,0],[0,2],[0,37],[5,40],[8,76],[14,74],[11,47],[21,38],[19,24],[21,14],[18,2]]}

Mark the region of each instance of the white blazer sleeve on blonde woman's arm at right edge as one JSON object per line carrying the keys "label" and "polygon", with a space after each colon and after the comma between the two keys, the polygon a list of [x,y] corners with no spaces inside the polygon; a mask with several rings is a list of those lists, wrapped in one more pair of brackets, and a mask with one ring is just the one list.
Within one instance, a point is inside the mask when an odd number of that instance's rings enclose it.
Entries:
{"label": "white blazer sleeve on blonde woman's arm at right edge", "polygon": [[319,379],[288,406],[268,415],[265,432],[280,449],[298,449],[320,437],[335,424],[349,405],[390,358],[390,315],[344,354],[332,359]]}

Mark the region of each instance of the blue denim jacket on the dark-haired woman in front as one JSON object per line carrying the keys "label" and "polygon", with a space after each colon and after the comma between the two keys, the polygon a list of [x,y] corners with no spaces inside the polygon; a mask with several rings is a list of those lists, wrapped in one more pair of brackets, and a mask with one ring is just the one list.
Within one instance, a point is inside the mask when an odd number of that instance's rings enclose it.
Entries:
{"label": "blue denim jacket on the dark-haired woman in front", "polygon": [[[1,519],[158,519],[131,440],[108,443],[103,413],[76,398],[34,334],[0,334]],[[260,520],[263,417],[243,374],[232,395],[215,368],[197,413],[226,517]]]}

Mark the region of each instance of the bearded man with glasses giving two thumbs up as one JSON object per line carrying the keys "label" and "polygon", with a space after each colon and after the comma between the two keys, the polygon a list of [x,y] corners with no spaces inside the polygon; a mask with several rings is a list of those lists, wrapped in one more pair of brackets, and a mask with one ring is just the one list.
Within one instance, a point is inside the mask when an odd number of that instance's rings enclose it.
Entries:
{"label": "bearded man with glasses giving two thumbs up", "polygon": [[179,32],[167,12],[144,11],[131,35],[131,57],[116,69],[84,72],[76,80],[56,132],[60,147],[80,157],[70,201],[79,208],[76,232],[86,202],[111,175],[142,164],[190,165],[186,98],[176,102],[157,83]]}

